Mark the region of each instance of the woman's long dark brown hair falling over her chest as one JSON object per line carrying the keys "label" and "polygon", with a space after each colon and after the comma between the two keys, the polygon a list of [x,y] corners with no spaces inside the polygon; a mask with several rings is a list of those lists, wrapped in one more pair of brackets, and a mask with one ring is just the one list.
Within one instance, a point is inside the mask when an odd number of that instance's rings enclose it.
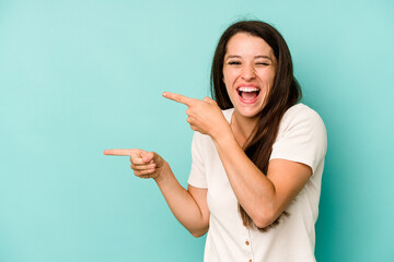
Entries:
{"label": "woman's long dark brown hair falling over her chest", "polygon": [[[223,83],[223,63],[227,52],[227,45],[232,36],[237,33],[247,33],[263,38],[274,50],[277,59],[276,75],[274,86],[270,88],[266,104],[258,114],[252,136],[248,138],[244,147],[248,158],[262,170],[267,174],[269,157],[273,152],[273,144],[277,138],[279,124],[282,116],[291,106],[296,105],[302,96],[301,87],[293,75],[292,60],[289,48],[277,29],[262,21],[241,21],[232,24],[222,34],[219,39],[213,56],[211,68],[211,94],[221,109],[232,108],[233,105],[227,93]],[[239,204],[241,217],[247,227],[255,226],[250,215]],[[282,215],[289,215],[283,212]],[[279,216],[271,225],[265,228],[258,228],[262,231],[267,230],[279,224]]]}

